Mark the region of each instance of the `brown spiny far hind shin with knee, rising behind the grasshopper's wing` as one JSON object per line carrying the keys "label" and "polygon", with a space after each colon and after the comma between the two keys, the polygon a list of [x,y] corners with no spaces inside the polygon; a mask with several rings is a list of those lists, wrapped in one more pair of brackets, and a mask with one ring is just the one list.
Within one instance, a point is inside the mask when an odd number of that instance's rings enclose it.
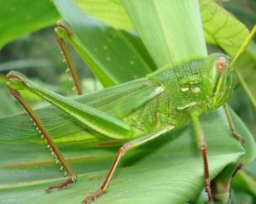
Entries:
{"label": "brown spiny far hind shin with knee, rising behind the grasshopper's wing", "polygon": [[70,54],[68,53],[68,50],[67,50],[67,46],[63,40],[63,37],[61,37],[61,34],[62,36],[67,36],[67,37],[70,37],[71,33],[70,31],[68,31],[67,29],[67,26],[65,25],[65,23],[63,21],[60,21],[59,23],[57,23],[57,26],[55,27],[55,37],[57,39],[57,42],[59,43],[60,47],[61,47],[61,54],[64,54],[64,57],[65,59],[63,59],[63,62],[67,62],[67,71],[70,71],[71,72],[71,76],[69,78],[69,81],[74,81],[74,87],[73,87],[73,90],[77,90],[78,94],[79,95],[82,95],[82,88],[80,86],[80,83],[79,83],[79,76],[73,66],[73,62],[72,62],[72,59],[70,57]]}

